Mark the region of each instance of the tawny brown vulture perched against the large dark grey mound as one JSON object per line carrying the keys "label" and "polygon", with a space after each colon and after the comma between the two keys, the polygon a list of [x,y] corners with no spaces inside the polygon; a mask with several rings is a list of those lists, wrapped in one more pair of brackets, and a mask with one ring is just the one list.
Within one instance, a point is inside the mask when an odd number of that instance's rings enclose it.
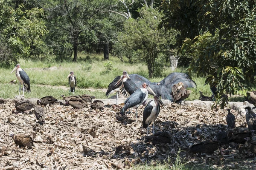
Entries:
{"label": "tawny brown vulture perched against the large dark grey mound", "polygon": [[172,99],[173,102],[179,102],[189,97],[190,90],[186,90],[183,86],[183,82],[179,82],[172,86]]}

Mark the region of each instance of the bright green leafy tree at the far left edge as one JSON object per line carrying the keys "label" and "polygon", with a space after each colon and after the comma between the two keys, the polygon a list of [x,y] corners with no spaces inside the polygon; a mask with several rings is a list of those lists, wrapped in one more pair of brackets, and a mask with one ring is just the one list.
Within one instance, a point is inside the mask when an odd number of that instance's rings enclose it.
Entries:
{"label": "bright green leafy tree at the far left edge", "polygon": [[12,8],[8,2],[0,1],[0,59],[6,64],[30,57],[32,46],[44,44],[42,37],[47,34],[43,9],[25,10],[23,4]]}

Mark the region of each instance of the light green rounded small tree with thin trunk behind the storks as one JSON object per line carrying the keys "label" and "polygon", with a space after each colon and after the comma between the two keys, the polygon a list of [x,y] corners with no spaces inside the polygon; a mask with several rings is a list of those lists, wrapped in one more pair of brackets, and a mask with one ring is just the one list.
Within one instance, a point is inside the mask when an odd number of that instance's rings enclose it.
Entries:
{"label": "light green rounded small tree with thin trunk behind the storks", "polygon": [[148,76],[152,77],[156,69],[156,59],[168,45],[169,36],[163,29],[157,29],[161,14],[155,9],[142,8],[140,17],[125,21],[118,36],[116,48],[121,48],[125,56],[134,56],[148,66]]}

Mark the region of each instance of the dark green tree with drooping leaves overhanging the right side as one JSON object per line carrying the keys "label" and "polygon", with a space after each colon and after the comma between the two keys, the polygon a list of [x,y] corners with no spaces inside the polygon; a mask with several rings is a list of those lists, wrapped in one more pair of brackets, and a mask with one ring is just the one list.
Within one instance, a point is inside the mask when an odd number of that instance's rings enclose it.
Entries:
{"label": "dark green tree with drooping leaves overhanging the right side", "polygon": [[[172,5],[171,5],[172,4]],[[256,74],[254,0],[165,0],[162,26],[181,31],[190,71],[223,93],[245,93]]]}

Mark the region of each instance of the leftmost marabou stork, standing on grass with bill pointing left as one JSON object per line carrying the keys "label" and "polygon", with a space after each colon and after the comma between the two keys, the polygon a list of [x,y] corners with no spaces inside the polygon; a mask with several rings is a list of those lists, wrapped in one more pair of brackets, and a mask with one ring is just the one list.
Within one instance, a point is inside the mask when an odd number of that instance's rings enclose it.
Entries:
{"label": "leftmost marabou stork, standing on grass with bill pointing left", "polygon": [[[24,86],[26,87],[27,91],[30,91],[30,79],[26,72],[20,68],[20,64],[15,65],[15,68],[12,70],[14,72],[16,70],[16,77],[19,82],[23,85],[23,95],[24,95]],[[11,72],[11,74],[12,74]],[[19,91],[20,95],[20,91]]]}

